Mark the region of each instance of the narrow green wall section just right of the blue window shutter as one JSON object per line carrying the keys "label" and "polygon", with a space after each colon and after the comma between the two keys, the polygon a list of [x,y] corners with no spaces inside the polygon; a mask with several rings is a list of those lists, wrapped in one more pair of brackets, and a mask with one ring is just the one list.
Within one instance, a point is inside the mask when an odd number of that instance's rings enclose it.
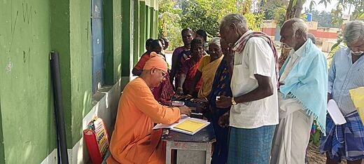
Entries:
{"label": "narrow green wall section just right of the blue window shutter", "polygon": [[112,85],[121,77],[121,1],[104,1],[105,82]]}

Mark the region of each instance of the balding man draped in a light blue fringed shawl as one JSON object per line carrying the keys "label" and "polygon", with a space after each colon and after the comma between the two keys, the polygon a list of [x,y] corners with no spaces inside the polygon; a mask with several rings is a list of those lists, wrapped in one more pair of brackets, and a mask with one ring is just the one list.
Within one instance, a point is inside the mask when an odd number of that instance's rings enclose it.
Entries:
{"label": "balding man draped in a light blue fringed shawl", "polygon": [[304,163],[314,120],[325,131],[328,88],[326,58],[311,39],[306,23],[293,18],[283,23],[281,42],[291,48],[279,71],[279,125],[271,163]]}

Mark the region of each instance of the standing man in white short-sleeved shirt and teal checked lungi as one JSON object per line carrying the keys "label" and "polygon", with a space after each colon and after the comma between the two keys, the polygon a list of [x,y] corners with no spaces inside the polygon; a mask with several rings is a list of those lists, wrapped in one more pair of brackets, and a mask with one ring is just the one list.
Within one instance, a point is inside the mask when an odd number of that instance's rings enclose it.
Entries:
{"label": "standing man in white short-sleeved shirt and teal checked lungi", "polygon": [[216,101],[221,110],[231,106],[228,163],[269,163],[278,123],[276,49],[267,34],[248,30],[240,14],[226,15],[220,34],[231,47],[225,55],[235,55],[232,97]]}

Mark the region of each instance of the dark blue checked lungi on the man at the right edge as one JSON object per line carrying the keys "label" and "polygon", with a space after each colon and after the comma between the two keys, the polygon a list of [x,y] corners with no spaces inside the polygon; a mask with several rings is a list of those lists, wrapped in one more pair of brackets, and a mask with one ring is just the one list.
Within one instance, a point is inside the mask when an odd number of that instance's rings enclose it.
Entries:
{"label": "dark blue checked lungi on the man at the right edge", "polygon": [[364,158],[364,126],[358,111],[345,116],[346,123],[335,125],[326,116],[326,136],[321,138],[321,153],[328,152],[332,160],[358,160]]}

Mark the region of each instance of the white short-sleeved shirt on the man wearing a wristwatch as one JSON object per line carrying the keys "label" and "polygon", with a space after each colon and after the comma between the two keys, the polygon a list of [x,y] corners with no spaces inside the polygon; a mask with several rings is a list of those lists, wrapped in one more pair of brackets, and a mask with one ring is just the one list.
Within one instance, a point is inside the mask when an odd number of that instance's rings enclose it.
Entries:
{"label": "white short-sleeved shirt on the man wearing a wristwatch", "polygon": [[[251,31],[246,32],[240,39],[249,33]],[[262,100],[232,105],[230,109],[230,126],[251,129],[278,124],[275,70],[272,48],[262,38],[253,37],[249,39],[241,53],[235,52],[234,71],[231,79],[232,95],[239,97],[258,88],[258,81],[254,74],[269,76],[274,93]]]}

